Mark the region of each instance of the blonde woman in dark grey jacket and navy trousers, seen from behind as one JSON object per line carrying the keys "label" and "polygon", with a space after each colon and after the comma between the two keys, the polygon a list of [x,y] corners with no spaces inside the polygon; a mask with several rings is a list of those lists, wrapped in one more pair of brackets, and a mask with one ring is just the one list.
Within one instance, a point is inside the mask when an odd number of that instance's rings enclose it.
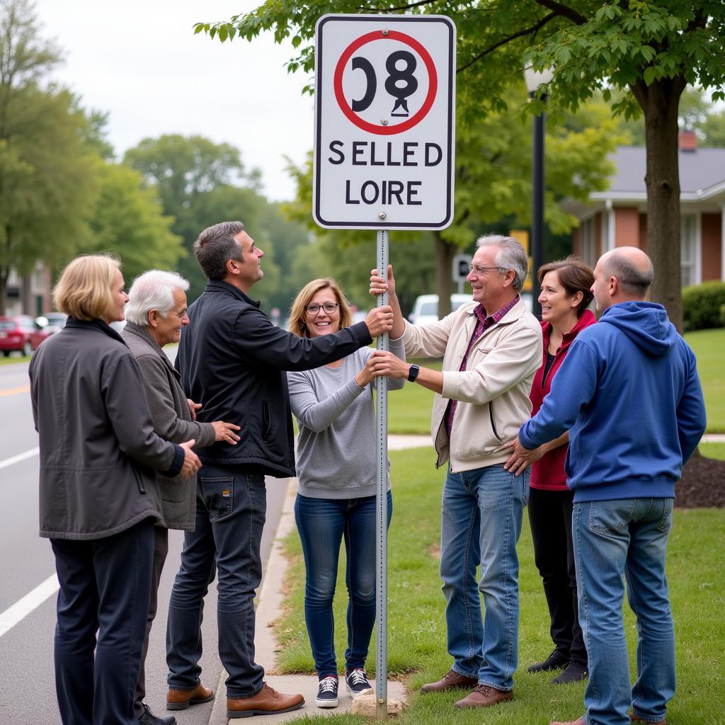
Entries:
{"label": "blonde woman in dark grey jacket and navy trousers, seen from behind", "polygon": [[191,476],[200,462],[193,440],[154,434],[138,366],[109,327],[128,299],[117,260],[78,257],[53,294],[69,317],[30,361],[30,397],[41,537],[51,539],[60,583],[58,705],[65,725],[128,725],[161,519],[151,469]]}

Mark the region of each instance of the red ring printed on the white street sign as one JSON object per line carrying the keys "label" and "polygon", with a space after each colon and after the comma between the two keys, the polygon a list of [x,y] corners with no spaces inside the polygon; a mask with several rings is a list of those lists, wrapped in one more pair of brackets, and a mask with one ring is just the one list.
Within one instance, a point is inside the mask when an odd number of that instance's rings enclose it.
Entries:
{"label": "red ring printed on the white street sign", "polygon": [[[405,43],[406,45],[410,46],[423,59],[423,62],[426,64],[426,69],[428,70],[428,95],[426,96],[426,100],[423,101],[421,109],[418,111],[418,113],[413,115],[413,117],[409,118],[407,121],[403,121],[403,123],[397,123],[392,126],[377,125],[375,123],[369,123],[368,121],[360,118],[360,116],[358,116],[357,113],[352,110],[350,104],[347,102],[347,99],[342,93],[342,73],[352,54],[355,53],[358,48],[364,46],[365,44],[370,43],[371,41],[379,40],[400,41],[401,43]],[[357,38],[357,40],[352,41],[352,43],[347,46],[344,53],[340,56],[340,59],[335,67],[334,86],[337,104],[339,105],[344,115],[347,116],[348,120],[352,121],[352,123],[354,123],[357,128],[362,128],[365,131],[370,131],[370,133],[377,133],[380,136],[392,136],[393,133],[402,133],[403,131],[407,131],[410,128],[413,128],[413,126],[421,123],[423,118],[428,115],[428,111],[431,109],[433,101],[436,99],[436,91],[438,90],[438,76],[436,75],[436,67],[433,63],[431,55],[421,45],[421,43],[415,40],[415,38],[412,38],[406,33],[399,33],[397,30],[389,30],[388,34],[385,36],[383,35],[381,30],[373,30],[372,33],[365,33],[364,36],[360,36],[360,38]]]}

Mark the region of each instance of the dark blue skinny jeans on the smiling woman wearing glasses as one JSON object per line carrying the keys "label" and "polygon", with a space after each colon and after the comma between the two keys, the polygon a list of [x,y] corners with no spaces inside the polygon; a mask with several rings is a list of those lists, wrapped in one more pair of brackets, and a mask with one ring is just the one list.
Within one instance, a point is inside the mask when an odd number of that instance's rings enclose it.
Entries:
{"label": "dark blue skinny jeans on the smiling woman wearing glasses", "polygon": [[[388,525],[393,500],[388,492]],[[340,542],[345,539],[348,670],[365,667],[375,625],[376,497],[318,499],[297,494],[297,522],[305,556],[305,621],[320,678],[337,674],[334,616]]]}

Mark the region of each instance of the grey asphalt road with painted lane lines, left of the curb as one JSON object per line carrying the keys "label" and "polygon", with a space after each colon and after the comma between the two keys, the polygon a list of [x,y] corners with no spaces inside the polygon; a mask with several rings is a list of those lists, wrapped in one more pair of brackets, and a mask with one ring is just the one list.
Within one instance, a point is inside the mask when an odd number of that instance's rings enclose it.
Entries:
{"label": "grey asphalt road with painted lane lines, left of the curb", "polygon": [[[33,428],[28,386],[28,363],[0,365],[0,725],[59,725],[53,671],[55,595],[30,610],[11,629],[3,631],[4,614],[18,600],[54,574],[47,539],[38,537],[38,436]],[[24,460],[17,460],[28,453]],[[13,462],[15,461],[15,462]],[[268,521],[262,537],[267,558],[281,511],[286,481],[268,479]],[[170,532],[159,592],[159,614],[152,630],[146,660],[147,702],[164,714],[166,668],[164,638],[166,608],[178,569],[183,534]],[[11,612],[14,610],[11,610]],[[203,624],[204,683],[216,687],[221,663],[216,653],[216,589],[212,587]],[[206,725],[212,703],[177,713],[180,725]]]}

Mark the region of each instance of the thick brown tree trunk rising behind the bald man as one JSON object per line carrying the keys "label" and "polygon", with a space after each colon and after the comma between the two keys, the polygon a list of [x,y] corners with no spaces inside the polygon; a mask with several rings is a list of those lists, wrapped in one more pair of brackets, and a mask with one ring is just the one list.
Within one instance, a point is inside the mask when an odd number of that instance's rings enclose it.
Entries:
{"label": "thick brown tree trunk rising behind the bald man", "polygon": [[667,309],[682,332],[680,186],[677,112],[684,78],[638,83],[633,88],[645,113],[647,142],[647,254],[655,268],[651,299]]}

